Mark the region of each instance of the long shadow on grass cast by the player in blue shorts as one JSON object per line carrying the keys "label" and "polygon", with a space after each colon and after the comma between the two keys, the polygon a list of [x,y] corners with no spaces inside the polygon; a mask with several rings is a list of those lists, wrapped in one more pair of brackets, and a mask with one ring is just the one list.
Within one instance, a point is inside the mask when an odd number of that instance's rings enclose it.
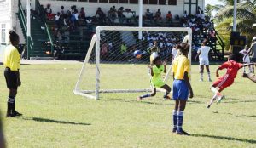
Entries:
{"label": "long shadow on grass cast by the player in blue shorts", "polygon": [[233,138],[233,137],[224,137],[224,136],[208,135],[208,134],[191,134],[191,136],[207,137],[207,138],[212,138],[212,139],[224,139],[224,140],[229,140],[229,141],[238,141],[238,142],[247,142],[250,144],[256,144],[255,139],[238,139],[238,138]]}

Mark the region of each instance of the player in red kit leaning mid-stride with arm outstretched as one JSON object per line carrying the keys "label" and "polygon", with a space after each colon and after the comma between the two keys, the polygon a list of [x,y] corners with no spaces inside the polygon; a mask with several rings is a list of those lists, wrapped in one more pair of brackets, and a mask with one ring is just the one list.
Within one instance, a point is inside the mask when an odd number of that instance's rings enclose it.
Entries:
{"label": "player in red kit leaning mid-stride with arm outstretched", "polygon": [[[217,100],[217,104],[218,104],[220,103],[221,100],[224,99],[224,95],[220,94],[220,92],[222,92],[224,88],[227,88],[230,85],[232,85],[232,83],[234,83],[234,80],[236,78],[236,75],[239,69],[247,65],[254,65],[254,64],[250,63],[250,64],[243,65],[241,63],[237,63],[235,61],[235,55],[234,54],[229,55],[229,60],[224,62],[224,64],[220,65],[216,71],[216,77],[218,77],[218,80],[212,83],[211,90],[214,95],[209,105],[207,105],[207,108],[210,108],[214,100],[218,99]],[[219,77],[218,71],[223,69],[227,69],[227,72],[226,74],[224,74],[223,77]]]}

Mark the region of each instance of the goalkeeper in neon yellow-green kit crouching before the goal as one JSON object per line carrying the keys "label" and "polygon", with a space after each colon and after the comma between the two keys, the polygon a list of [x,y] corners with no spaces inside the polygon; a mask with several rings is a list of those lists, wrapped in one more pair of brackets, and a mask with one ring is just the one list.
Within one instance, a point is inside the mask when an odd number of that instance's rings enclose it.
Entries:
{"label": "goalkeeper in neon yellow-green kit crouching before the goal", "polygon": [[156,94],[156,88],[164,88],[166,89],[166,94],[164,95],[165,100],[170,100],[170,97],[168,94],[171,92],[171,88],[163,82],[161,79],[161,73],[165,72],[166,73],[166,62],[162,62],[160,60],[159,56],[156,56],[154,60],[152,60],[151,65],[148,65],[148,68],[150,70],[150,83],[151,83],[151,88],[152,88],[152,93],[151,94],[144,94],[139,97],[137,97],[137,100],[142,100],[143,98],[147,97],[153,97]]}

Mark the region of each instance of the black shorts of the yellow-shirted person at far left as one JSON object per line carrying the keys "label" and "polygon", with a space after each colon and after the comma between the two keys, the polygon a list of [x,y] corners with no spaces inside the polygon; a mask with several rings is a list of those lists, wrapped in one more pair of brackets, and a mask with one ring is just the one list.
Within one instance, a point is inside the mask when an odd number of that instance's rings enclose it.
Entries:
{"label": "black shorts of the yellow-shirted person at far left", "polygon": [[18,88],[18,77],[15,74],[15,71],[11,71],[8,67],[4,70],[4,77],[6,80],[6,86],[9,89]]}

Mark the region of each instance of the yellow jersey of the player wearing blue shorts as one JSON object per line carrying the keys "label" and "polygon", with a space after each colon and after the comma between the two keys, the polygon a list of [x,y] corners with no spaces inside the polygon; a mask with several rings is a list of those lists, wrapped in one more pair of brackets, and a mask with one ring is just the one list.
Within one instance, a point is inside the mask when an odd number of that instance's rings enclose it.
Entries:
{"label": "yellow jersey of the player wearing blue shorts", "polygon": [[190,72],[190,61],[184,55],[179,55],[173,60],[172,73],[174,73],[174,79],[183,80],[185,71]]}

